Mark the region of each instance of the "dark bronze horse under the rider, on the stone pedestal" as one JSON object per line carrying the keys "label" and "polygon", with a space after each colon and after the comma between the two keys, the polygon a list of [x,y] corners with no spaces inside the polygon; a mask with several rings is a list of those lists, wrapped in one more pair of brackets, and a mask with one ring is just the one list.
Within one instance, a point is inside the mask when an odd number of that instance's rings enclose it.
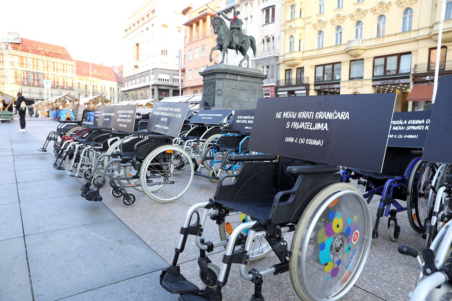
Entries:
{"label": "dark bronze horse under the rider, on the stone pedestal", "polygon": [[254,40],[254,37],[244,35],[245,42],[240,42],[240,46],[236,49],[232,42],[231,30],[227,27],[224,19],[219,16],[215,16],[212,18],[212,27],[213,32],[218,35],[218,37],[217,45],[212,47],[212,50],[210,51],[210,61],[212,61],[212,52],[214,50],[218,50],[223,53],[223,59],[221,60],[221,64],[223,64],[227,49],[234,49],[235,51],[240,51],[243,56],[243,60],[240,61],[239,66],[241,66],[242,62],[246,60],[248,63],[247,66],[250,67],[250,56],[248,56],[246,52],[251,47],[254,57],[256,57],[256,41]]}

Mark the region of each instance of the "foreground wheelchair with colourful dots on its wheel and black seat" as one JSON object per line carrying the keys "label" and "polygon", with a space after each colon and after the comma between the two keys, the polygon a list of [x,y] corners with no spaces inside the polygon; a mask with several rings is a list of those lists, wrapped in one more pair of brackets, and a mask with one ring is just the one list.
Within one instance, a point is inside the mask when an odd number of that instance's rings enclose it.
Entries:
{"label": "foreground wheelchair with colourful dots on its wheel and black seat", "polygon": [[[213,199],[189,208],[173,262],[162,271],[160,285],[179,294],[180,301],[222,300],[231,265],[239,264],[240,276],[254,284],[251,300],[264,300],[264,276],[285,272],[301,300],[344,296],[358,279],[372,240],[372,220],[362,194],[341,182],[337,166],[285,157],[275,162],[273,155],[238,154],[228,159],[242,166],[234,175],[221,177]],[[304,166],[291,166],[294,163]],[[249,218],[232,230],[229,239],[211,242],[202,237],[207,217],[221,225],[236,212]],[[294,232],[290,250],[283,238],[288,232]],[[199,248],[204,289],[188,282],[177,265],[189,235]],[[270,245],[279,262],[247,271],[250,252],[259,239]],[[226,247],[220,267],[207,256],[218,247]]]}

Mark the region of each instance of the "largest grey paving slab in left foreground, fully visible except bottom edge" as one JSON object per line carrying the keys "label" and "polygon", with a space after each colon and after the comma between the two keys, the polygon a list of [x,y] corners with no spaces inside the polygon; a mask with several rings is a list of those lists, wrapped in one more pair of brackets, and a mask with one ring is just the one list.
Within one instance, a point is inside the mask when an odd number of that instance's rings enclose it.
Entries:
{"label": "largest grey paving slab in left foreground, fully visible except bottom edge", "polygon": [[168,266],[119,220],[34,234],[25,241],[36,301],[72,296]]}

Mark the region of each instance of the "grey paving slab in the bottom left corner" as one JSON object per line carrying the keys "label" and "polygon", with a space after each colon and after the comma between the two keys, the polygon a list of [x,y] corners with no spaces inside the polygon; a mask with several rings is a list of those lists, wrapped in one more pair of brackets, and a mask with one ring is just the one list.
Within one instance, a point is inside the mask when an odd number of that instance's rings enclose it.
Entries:
{"label": "grey paving slab in the bottom left corner", "polygon": [[0,262],[0,300],[31,301],[23,237],[0,241]]}

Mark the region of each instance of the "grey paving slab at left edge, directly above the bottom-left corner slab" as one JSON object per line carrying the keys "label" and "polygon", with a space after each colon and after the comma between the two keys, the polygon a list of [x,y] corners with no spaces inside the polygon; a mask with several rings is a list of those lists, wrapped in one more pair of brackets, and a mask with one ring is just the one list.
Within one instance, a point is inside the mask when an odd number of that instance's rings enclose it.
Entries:
{"label": "grey paving slab at left edge, directly above the bottom-left corner slab", "polygon": [[24,236],[19,203],[0,205],[0,212],[0,241]]}

